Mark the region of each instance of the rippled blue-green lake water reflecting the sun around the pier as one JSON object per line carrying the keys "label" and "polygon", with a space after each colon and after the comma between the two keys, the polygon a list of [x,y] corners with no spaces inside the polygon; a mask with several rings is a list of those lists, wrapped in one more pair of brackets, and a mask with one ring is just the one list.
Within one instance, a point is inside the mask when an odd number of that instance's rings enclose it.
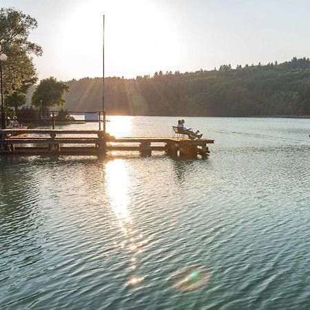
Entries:
{"label": "rippled blue-green lake water reflecting the sun around the pier", "polygon": [[0,309],[310,309],[310,120],[185,120],[207,160],[0,156]]}

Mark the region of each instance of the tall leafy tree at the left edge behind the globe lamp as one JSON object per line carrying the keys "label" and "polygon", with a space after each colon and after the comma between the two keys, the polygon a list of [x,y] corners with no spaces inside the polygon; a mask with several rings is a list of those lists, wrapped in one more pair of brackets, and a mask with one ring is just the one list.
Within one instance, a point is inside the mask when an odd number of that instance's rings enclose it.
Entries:
{"label": "tall leafy tree at the left edge behind the globe lamp", "polygon": [[3,89],[7,107],[15,112],[23,105],[24,95],[37,82],[37,72],[32,56],[41,56],[42,48],[28,40],[30,32],[37,28],[37,21],[27,14],[12,8],[0,9],[0,39],[8,61],[3,64]]}

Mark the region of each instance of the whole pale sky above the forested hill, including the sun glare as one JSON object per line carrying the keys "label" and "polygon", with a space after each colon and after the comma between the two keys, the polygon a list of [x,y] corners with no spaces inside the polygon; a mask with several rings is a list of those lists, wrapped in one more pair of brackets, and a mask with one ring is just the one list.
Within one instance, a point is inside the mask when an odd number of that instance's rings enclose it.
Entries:
{"label": "whole pale sky above the forested hill, including the sun glare", "polygon": [[289,61],[310,54],[309,0],[1,0],[30,14],[39,79],[135,78],[162,70]]}

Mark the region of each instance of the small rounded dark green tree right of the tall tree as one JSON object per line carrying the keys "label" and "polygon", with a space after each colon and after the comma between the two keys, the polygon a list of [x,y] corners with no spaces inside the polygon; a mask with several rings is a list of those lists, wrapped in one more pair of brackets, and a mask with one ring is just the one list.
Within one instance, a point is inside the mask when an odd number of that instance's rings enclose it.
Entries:
{"label": "small rounded dark green tree right of the tall tree", "polygon": [[47,110],[50,107],[61,107],[65,103],[64,92],[68,92],[69,87],[54,77],[43,79],[32,94],[32,104]]}

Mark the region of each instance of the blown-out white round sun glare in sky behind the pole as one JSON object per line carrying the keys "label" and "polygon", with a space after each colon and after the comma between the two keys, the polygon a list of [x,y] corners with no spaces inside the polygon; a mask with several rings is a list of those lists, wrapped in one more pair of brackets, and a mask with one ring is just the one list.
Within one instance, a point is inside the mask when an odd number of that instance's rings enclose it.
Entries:
{"label": "blown-out white round sun glare in sky behind the pole", "polygon": [[63,70],[75,78],[102,76],[103,14],[105,76],[130,78],[173,66],[181,40],[156,1],[90,0],[77,3],[65,21]]}

